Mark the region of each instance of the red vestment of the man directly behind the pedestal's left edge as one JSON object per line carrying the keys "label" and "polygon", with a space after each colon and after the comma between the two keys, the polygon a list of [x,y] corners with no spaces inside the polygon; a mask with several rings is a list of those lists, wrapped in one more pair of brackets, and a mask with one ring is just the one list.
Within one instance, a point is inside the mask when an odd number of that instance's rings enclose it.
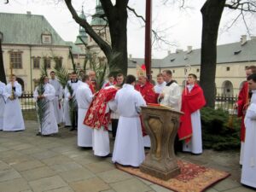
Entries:
{"label": "red vestment of the man directly behind the pedestal's left edge", "polygon": [[[142,96],[147,104],[148,103],[157,103],[156,93],[154,92],[154,85],[149,83],[148,81],[144,85],[136,84],[135,90],[139,91],[142,94]],[[143,125],[142,116],[140,116],[140,119],[141,119],[143,137],[144,137],[148,134],[146,132],[145,126]]]}

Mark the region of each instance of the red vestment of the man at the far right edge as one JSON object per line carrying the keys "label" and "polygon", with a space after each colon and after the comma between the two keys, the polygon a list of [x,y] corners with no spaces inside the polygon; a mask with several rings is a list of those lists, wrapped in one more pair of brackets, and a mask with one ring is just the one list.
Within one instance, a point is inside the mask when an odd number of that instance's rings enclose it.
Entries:
{"label": "red vestment of the man at the far right edge", "polygon": [[244,117],[245,117],[245,110],[247,108],[247,104],[249,102],[249,99],[248,99],[248,92],[249,92],[249,89],[248,89],[248,83],[245,82],[243,85],[242,85],[242,88],[239,92],[239,95],[238,95],[238,100],[237,100],[237,116],[238,117],[241,117],[241,135],[240,135],[240,139],[241,139],[241,142],[244,142],[245,141],[245,125],[244,125]]}

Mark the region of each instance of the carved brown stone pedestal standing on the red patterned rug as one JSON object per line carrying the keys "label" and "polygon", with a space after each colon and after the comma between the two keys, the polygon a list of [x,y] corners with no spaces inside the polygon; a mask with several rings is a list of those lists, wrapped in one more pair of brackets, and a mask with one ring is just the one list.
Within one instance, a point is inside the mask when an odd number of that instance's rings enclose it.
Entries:
{"label": "carved brown stone pedestal standing on the red patterned rug", "polygon": [[141,172],[168,180],[180,173],[174,154],[174,140],[181,112],[171,108],[142,107],[143,123],[151,140],[151,148]]}

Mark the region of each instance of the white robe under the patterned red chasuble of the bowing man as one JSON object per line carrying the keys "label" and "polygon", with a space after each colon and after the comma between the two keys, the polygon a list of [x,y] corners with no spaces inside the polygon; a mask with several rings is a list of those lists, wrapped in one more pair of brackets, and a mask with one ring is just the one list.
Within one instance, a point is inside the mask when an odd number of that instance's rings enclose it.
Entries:
{"label": "white robe under the patterned red chasuble of the bowing man", "polygon": [[[113,85],[105,87],[103,89],[113,88]],[[114,101],[109,101],[105,113],[116,109],[116,104]],[[111,124],[108,125],[108,130],[110,129]],[[107,156],[110,154],[109,146],[109,136],[108,131],[105,130],[103,126],[100,129],[93,129],[93,151],[96,156]]]}

